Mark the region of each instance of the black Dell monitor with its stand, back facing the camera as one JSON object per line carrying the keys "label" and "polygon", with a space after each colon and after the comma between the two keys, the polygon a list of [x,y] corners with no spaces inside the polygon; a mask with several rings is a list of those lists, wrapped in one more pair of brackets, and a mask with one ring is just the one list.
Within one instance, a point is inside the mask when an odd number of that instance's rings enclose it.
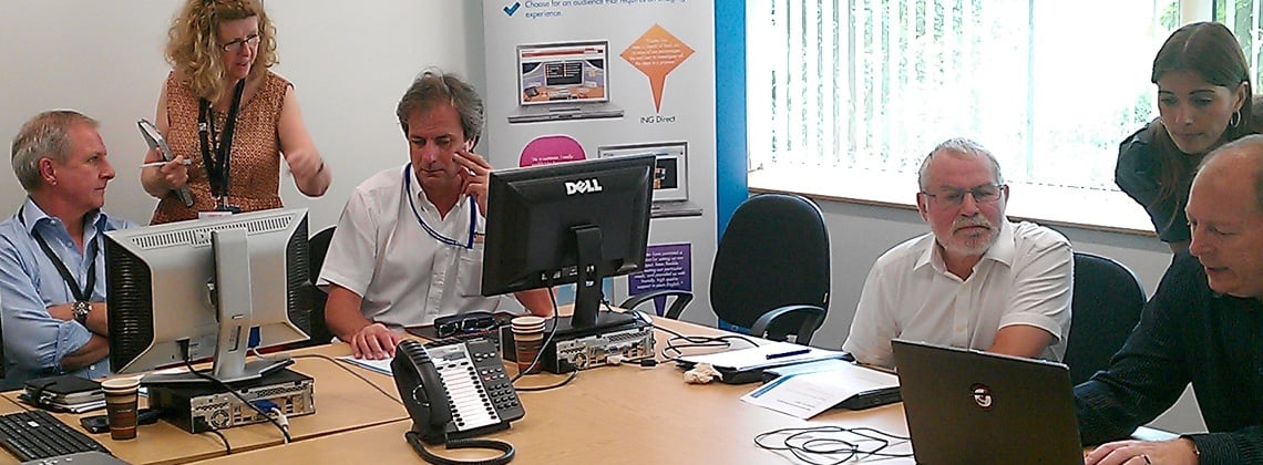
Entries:
{"label": "black Dell monitor with its stand, back facing the camera", "polygon": [[652,154],[493,171],[482,294],[575,283],[568,330],[623,323],[601,281],[644,268],[653,173]]}

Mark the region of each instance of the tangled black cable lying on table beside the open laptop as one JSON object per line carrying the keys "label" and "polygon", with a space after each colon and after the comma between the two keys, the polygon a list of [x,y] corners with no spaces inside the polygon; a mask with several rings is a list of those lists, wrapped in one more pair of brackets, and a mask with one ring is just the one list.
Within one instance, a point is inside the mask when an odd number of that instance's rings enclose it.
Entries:
{"label": "tangled black cable lying on table beside the open laptop", "polygon": [[[777,437],[781,437],[778,442]],[[817,426],[808,428],[779,428],[754,436],[754,445],[770,451],[787,451],[796,459],[812,465],[842,464],[869,457],[907,459],[912,454],[885,452],[887,449],[907,444],[899,436],[870,427],[846,428]]]}

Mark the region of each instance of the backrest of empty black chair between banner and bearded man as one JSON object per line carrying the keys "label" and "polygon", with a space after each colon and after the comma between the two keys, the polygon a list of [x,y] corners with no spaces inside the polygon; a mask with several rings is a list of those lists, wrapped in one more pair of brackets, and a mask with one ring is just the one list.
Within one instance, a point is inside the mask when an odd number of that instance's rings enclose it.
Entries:
{"label": "backrest of empty black chair between banner and bearded man", "polygon": [[[816,203],[791,193],[750,197],[738,206],[719,241],[711,307],[720,320],[745,329],[778,307],[810,305],[827,311],[829,258],[829,231]],[[768,334],[797,334],[802,321],[787,315]]]}

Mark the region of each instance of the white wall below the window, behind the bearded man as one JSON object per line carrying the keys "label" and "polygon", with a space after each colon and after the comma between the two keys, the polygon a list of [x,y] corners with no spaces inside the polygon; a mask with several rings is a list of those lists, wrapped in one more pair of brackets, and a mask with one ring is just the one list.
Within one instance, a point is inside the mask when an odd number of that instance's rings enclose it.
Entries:
{"label": "white wall below the window, behind the bearded man", "polygon": [[[829,226],[832,255],[832,298],[825,326],[812,345],[837,349],[850,331],[855,306],[868,270],[882,253],[903,240],[930,231],[916,210],[817,201]],[[1139,208],[1139,207],[1138,207]],[[1065,234],[1075,250],[1090,251],[1122,262],[1140,278],[1152,294],[1171,263],[1171,251],[1156,238],[1053,226]],[[1177,432],[1206,431],[1191,389],[1153,426]]]}

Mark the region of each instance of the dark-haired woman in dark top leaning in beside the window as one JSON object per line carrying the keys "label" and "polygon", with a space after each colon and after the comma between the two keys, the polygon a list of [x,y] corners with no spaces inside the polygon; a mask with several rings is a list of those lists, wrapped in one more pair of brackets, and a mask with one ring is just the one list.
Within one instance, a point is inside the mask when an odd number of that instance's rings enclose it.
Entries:
{"label": "dark-haired woman in dark top leaning in beside the window", "polygon": [[[1219,23],[1192,23],[1171,33],[1153,58],[1158,119],[1119,147],[1114,182],[1140,203],[1171,251],[1188,251],[1188,188],[1202,157],[1260,133],[1250,67],[1242,45]],[[1253,109],[1253,111],[1252,111]]]}

